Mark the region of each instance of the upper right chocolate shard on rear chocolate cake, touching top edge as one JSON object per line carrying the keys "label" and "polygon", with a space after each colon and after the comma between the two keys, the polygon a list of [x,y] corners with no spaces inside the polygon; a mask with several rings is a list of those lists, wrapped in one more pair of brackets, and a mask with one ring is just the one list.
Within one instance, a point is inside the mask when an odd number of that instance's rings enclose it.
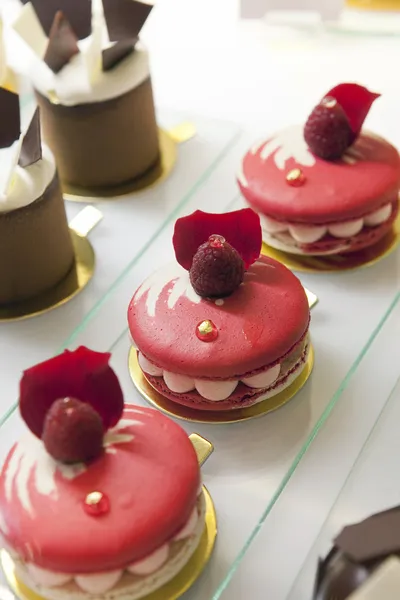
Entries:
{"label": "upper right chocolate shard on rear chocolate cake, touching top edge", "polygon": [[151,4],[136,0],[102,0],[102,2],[111,42],[137,38],[153,9]]}

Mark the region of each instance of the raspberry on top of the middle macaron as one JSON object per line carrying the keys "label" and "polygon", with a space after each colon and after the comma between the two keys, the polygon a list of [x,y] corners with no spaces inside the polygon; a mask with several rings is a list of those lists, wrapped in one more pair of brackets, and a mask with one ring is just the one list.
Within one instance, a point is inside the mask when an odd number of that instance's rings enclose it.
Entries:
{"label": "raspberry on top of the middle macaron", "polygon": [[222,236],[211,235],[194,255],[189,275],[199,296],[222,298],[242,283],[244,262]]}

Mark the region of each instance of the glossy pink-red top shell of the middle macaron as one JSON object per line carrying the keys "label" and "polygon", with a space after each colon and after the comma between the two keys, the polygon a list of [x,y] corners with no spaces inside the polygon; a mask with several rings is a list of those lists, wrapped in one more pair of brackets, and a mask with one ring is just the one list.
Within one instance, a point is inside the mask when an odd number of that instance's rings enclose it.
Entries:
{"label": "glossy pink-red top shell of the middle macaron", "polygon": [[[172,373],[209,379],[273,364],[302,338],[309,316],[300,281],[264,256],[233,294],[217,300],[197,296],[179,265],[164,267],[144,282],[128,310],[131,334],[148,360]],[[212,342],[196,335],[205,319],[218,330]]]}

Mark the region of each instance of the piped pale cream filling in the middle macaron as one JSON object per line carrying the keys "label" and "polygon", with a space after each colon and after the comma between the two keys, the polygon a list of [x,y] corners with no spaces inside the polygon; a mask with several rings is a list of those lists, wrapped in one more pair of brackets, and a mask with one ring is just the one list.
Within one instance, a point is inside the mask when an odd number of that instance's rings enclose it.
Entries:
{"label": "piped pale cream filling in the middle macaron", "polygon": [[139,352],[139,365],[141,369],[150,376],[163,377],[165,385],[171,392],[176,394],[185,394],[196,390],[197,393],[205,400],[212,402],[221,402],[226,400],[235,391],[239,383],[242,381],[245,385],[250,388],[263,389],[271,386],[279,377],[281,371],[281,365],[277,364],[257,373],[250,377],[244,377],[243,379],[234,379],[228,381],[210,380],[210,379],[194,379],[187,375],[179,375],[177,373],[171,373],[170,371],[164,371],[160,367],[156,367],[147,358]]}

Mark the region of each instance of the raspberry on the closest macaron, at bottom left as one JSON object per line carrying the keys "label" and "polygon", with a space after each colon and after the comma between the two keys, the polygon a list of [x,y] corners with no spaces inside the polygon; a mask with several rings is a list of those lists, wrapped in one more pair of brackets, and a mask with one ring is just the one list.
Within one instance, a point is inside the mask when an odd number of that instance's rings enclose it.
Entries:
{"label": "raspberry on the closest macaron, at bottom left", "polygon": [[56,400],[49,409],[42,440],[47,452],[63,463],[89,462],[103,452],[100,415],[75,398]]}

